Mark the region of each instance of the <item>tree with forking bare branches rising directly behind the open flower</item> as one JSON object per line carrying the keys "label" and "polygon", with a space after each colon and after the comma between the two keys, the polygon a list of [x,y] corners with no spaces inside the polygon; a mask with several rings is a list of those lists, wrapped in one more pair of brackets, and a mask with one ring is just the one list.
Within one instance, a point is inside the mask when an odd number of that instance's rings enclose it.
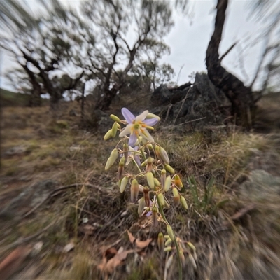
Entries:
{"label": "tree with forking bare branches rising directly behind the open flower", "polygon": [[82,63],[92,78],[102,81],[103,94],[96,108],[106,110],[125,85],[135,60],[145,52],[145,45],[162,43],[173,26],[172,9],[158,1],[124,4],[107,0],[83,2],[82,12],[92,22],[96,36],[96,43],[87,49],[89,59]]}

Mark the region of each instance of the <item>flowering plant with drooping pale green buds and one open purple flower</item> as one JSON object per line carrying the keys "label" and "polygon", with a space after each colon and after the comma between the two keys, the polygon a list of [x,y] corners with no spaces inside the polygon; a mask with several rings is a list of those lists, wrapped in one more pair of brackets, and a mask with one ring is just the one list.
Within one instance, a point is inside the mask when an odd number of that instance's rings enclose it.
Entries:
{"label": "flowering plant with drooping pale green buds and one open purple flower", "polygon": [[[165,148],[155,143],[148,130],[153,130],[160,118],[148,110],[135,117],[128,109],[122,109],[125,120],[115,115],[111,118],[115,121],[104,140],[116,137],[119,133],[120,141],[106,162],[105,170],[112,167],[117,159],[118,163],[118,187],[120,193],[130,188],[130,197],[133,203],[138,202],[139,216],[152,216],[154,227],[159,223],[165,225],[167,235],[158,234],[158,247],[162,252],[176,253],[179,265],[179,279],[182,279],[182,264],[185,261],[186,250],[183,241],[176,237],[174,230],[165,217],[164,208],[169,208],[166,193],[172,192],[174,204],[188,210],[185,197],[180,193],[183,183],[179,174],[175,174],[174,168],[169,165],[169,156]],[[122,126],[125,127],[122,128]],[[134,165],[136,172],[126,172],[127,165]],[[159,227],[158,227],[159,228]],[[193,246],[194,247],[194,246]]]}

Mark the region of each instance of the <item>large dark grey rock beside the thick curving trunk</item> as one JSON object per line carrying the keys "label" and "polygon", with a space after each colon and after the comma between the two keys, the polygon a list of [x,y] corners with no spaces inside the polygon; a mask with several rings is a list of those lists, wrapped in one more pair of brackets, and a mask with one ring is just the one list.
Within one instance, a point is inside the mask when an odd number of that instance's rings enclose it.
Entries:
{"label": "large dark grey rock beside the thick curving trunk", "polygon": [[230,102],[218,90],[206,73],[197,73],[195,83],[168,89],[158,87],[152,94],[152,113],[159,115],[165,124],[180,125],[188,130],[225,125],[230,116]]}

